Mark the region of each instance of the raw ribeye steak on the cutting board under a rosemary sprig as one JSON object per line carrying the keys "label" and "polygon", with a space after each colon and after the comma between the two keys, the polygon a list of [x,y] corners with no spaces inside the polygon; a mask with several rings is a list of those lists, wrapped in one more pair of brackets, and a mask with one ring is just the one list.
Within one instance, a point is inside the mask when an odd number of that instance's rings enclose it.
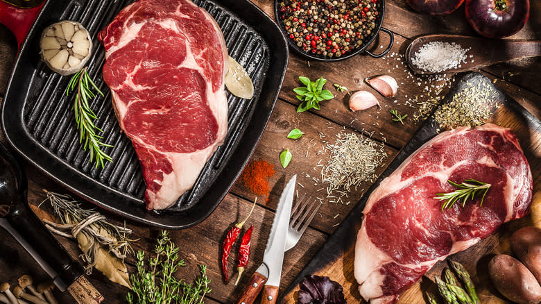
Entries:
{"label": "raw ribeye steak on the cutting board under a rosemary sprig", "polygon": [[[441,210],[447,180],[474,178],[491,186],[480,205],[455,203]],[[463,251],[506,221],[524,217],[532,176],[515,133],[486,124],[441,133],[381,181],[363,210],[357,233],[355,278],[370,303],[395,303],[447,255]]]}

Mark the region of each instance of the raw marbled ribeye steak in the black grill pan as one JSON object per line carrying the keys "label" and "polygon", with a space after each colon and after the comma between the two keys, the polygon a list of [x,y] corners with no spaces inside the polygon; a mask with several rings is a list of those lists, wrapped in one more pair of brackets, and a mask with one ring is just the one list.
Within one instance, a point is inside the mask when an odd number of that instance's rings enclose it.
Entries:
{"label": "raw marbled ribeye steak in the black grill pan", "polygon": [[146,208],[190,189],[227,131],[227,49],[218,24],[189,0],[139,0],[98,34],[103,79],[146,182]]}

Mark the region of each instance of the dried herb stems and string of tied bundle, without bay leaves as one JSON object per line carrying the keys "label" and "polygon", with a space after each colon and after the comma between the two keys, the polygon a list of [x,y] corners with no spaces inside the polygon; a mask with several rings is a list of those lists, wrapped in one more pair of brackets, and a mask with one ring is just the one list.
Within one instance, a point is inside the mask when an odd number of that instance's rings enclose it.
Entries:
{"label": "dried herb stems and string of tied bundle, without bay leaves", "polygon": [[[75,201],[69,195],[58,194],[43,190],[47,198],[40,203],[40,206],[48,201],[55,212],[55,216],[60,218],[62,224],[44,220],[45,226],[53,233],[77,239],[78,233],[83,233],[91,240],[92,244],[105,246],[108,251],[119,259],[124,259],[128,253],[134,253],[128,235],[132,233],[131,229],[123,226],[116,226],[109,223],[107,219],[99,212],[94,210],[85,210],[80,201]],[[74,229],[75,228],[75,229]],[[101,232],[101,233],[100,233]],[[82,258],[88,263],[87,271],[92,271],[96,264],[95,246],[83,253]]]}

